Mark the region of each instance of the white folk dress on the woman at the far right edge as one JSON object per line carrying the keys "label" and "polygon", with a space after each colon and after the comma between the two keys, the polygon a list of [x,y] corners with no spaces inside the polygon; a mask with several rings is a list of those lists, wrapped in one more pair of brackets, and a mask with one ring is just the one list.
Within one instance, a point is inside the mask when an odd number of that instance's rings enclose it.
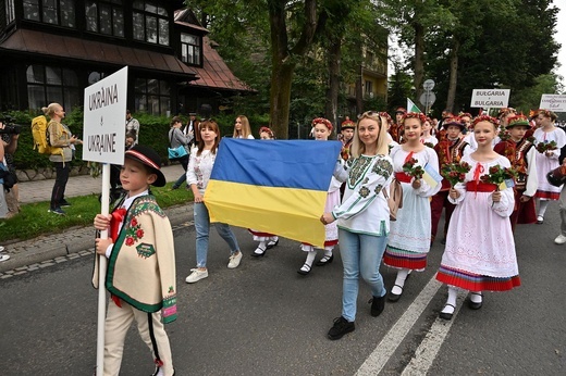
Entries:
{"label": "white folk dress on the woman at the far right edge", "polygon": [[556,142],[556,149],[552,151],[551,156],[545,153],[537,152],[537,176],[539,180],[539,189],[537,197],[546,200],[558,200],[562,187],[554,187],[546,180],[546,174],[559,165],[558,156],[561,156],[561,149],[566,145],[566,134],[559,128],[554,128],[551,131],[544,131],[542,128],[534,130],[534,145],[540,142]]}

